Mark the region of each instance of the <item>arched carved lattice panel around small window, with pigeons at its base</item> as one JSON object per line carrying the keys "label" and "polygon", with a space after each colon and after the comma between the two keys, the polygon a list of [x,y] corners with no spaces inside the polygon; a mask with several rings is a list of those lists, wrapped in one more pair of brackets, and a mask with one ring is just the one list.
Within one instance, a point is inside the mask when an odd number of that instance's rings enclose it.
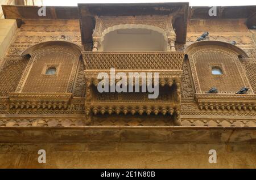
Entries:
{"label": "arched carved lattice panel around small window, with pigeons at its base", "polygon": [[[204,93],[217,87],[219,93],[236,93],[242,87],[250,88],[237,55],[218,46],[203,46],[189,53],[189,62],[193,73],[197,93]],[[224,74],[213,75],[211,67],[221,64]],[[253,89],[248,93],[253,93]]]}

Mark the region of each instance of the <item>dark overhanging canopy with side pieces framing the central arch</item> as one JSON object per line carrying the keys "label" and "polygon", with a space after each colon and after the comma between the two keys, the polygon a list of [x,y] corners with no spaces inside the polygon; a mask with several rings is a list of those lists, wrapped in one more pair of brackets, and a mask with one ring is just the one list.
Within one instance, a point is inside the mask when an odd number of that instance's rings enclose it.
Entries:
{"label": "dark overhanging canopy with side pieces framing the central arch", "polygon": [[82,43],[91,43],[96,16],[173,16],[176,42],[185,44],[189,3],[78,4]]}

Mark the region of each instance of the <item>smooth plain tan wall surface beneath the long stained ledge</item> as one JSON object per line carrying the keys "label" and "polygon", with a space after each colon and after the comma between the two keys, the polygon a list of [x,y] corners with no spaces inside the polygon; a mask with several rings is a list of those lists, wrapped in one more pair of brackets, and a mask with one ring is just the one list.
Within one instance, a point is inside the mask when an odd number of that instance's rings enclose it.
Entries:
{"label": "smooth plain tan wall surface beneath the long stained ledge", "polygon": [[[46,164],[38,163],[39,149]],[[208,162],[210,149],[217,164]],[[0,144],[1,168],[256,168],[256,145],[75,143]]]}

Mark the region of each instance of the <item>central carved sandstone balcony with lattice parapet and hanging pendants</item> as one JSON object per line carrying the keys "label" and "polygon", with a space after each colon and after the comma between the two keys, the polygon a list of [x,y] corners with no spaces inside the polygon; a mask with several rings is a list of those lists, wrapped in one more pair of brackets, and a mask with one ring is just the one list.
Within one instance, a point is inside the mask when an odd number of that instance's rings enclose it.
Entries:
{"label": "central carved sandstone balcony with lattice parapet and hanging pendants", "polygon": [[[90,124],[92,115],[156,115],[169,117],[174,125],[180,125],[180,88],[183,72],[184,52],[82,52],[85,64],[86,122]],[[141,89],[146,82],[143,75],[139,77],[139,92],[98,92],[101,79],[98,74],[105,72],[111,76],[110,68],[115,73],[138,74],[154,72],[159,74],[159,96],[148,98]],[[114,80],[116,84],[118,80]],[[109,78],[110,86],[111,78]],[[131,85],[127,78],[126,85]],[[115,85],[114,84],[114,85]],[[138,85],[138,84],[137,84]],[[135,86],[135,83],[133,83]],[[168,116],[169,115],[169,116]]]}

